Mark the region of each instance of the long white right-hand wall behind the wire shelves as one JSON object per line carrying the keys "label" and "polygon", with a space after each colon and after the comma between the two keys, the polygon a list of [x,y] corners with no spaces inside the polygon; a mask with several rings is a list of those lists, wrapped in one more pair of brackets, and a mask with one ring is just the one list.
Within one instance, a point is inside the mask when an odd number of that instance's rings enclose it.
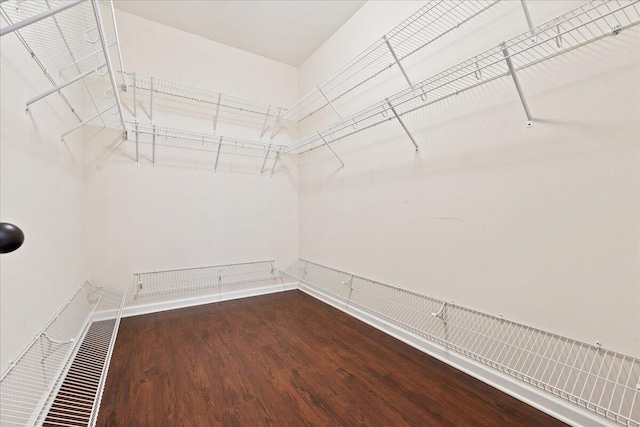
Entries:
{"label": "long white right-hand wall behind the wire shelves", "polygon": [[[536,24],[575,5],[528,4]],[[301,90],[411,13],[397,10],[363,6],[300,68]],[[520,2],[501,2],[407,71],[420,81],[526,28]],[[405,116],[419,154],[391,121],[333,144],[343,170],[326,149],[302,155],[300,256],[640,354],[639,34],[519,73],[531,129],[507,77]],[[338,108],[402,88],[391,74]]]}

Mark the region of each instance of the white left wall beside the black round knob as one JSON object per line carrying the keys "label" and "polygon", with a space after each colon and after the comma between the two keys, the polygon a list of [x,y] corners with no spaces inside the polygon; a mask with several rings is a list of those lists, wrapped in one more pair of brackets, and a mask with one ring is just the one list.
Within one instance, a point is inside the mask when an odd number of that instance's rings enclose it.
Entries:
{"label": "white left wall beside the black round knob", "polygon": [[82,149],[60,135],[78,121],[15,35],[0,39],[0,218],[25,233],[0,255],[0,372],[86,278]]}

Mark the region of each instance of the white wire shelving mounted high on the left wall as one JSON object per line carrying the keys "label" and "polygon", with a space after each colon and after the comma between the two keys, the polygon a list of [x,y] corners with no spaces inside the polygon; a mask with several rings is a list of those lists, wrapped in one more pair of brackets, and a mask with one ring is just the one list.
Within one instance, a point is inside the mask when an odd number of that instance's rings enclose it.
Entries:
{"label": "white wire shelving mounted high on the left wall", "polygon": [[27,110],[57,92],[80,122],[63,139],[84,124],[126,131],[115,74],[122,60],[111,0],[5,0],[0,14],[7,24],[2,35],[17,35],[53,85],[25,100]]}

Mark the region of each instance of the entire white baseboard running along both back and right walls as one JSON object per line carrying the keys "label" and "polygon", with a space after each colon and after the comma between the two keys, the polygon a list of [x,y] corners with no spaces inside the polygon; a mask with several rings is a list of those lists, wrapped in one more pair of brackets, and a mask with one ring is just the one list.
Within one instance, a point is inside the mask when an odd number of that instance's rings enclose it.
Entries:
{"label": "entire white baseboard running along both back and right walls", "polygon": [[[512,396],[516,399],[539,409],[554,418],[559,419],[574,427],[616,427],[618,424],[600,418],[577,405],[573,405],[551,393],[540,390],[530,384],[519,381],[503,372],[485,366],[473,359],[456,353],[439,344],[427,341],[424,338],[406,331],[398,326],[379,319],[365,311],[349,306],[344,302],[307,286],[302,283],[285,283],[268,285],[243,291],[229,292],[218,295],[207,295],[202,297],[187,298],[176,301],[166,301],[145,305],[125,307],[122,317],[139,316],[160,311],[174,310],[178,308],[193,307],[197,305],[210,304],[213,302],[229,301],[239,298],[267,295],[277,292],[291,291],[298,289],[326,304],[329,304],[344,313],[367,323],[370,326],[396,338],[400,341],[432,356],[436,359],[453,366],[454,368],[471,375],[472,377],[489,384],[490,386]],[[106,317],[106,316],[105,316]]]}

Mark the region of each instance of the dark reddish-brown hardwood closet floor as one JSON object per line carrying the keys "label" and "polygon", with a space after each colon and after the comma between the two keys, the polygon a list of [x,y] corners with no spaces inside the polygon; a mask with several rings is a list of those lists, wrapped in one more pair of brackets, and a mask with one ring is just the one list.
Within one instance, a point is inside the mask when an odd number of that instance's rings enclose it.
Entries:
{"label": "dark reddish-brown hardwood closet floor", "polygon": [[564,426],[300,291],[123,319],[99,426]]}

